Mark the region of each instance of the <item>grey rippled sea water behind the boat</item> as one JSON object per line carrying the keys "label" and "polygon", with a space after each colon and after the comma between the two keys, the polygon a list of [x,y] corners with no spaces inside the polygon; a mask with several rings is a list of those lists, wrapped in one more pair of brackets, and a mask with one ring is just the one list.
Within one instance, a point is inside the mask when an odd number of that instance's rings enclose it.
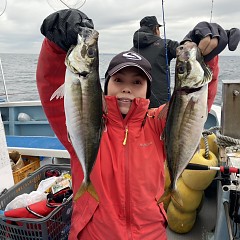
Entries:
{"label": "grey rippled sea water behind the boat", "polygon": [[[99,56],[99,73],[102,79],[113,56],[114,54],[100,54]],[[2,63],[2,68],[0,68],[0,98],[5,98],[4,76],[9,101],[39,100],[36,85],[38,54],[0,53],[0,59]],[[217,105],[221,105],[222,102],[222,80],[240,80],[240,56],[220,56],[219,66],[218,93],[214,101]],[[174,67],[175,61],[172,61],[170,70],[172,86]]]}

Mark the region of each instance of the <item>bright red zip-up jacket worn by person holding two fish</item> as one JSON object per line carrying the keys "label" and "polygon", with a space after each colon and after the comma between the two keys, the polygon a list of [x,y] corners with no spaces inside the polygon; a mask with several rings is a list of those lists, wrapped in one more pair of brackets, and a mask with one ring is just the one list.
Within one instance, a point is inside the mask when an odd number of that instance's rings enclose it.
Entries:
{"label": "bright red zip-up jacket worn by person holding two fish", "polygon": [[[71,155],[75,194],[83,173],[67,139],[63,100],[49,101],[64,82],[65,56],[63,50],[44,39],[38,61],[37,86],[49,122]],[[211,95],[211,99],[214,97]],[[69,239],[164,240],[167,238],[166,215],[157,200],[164,191],[165,156],[160,136],[165,122],[155,117],[162,107],[147,110],[149,100],[135,99],[123,119],[116,98],[107,96],[106,102],[106,129],[90,176],[100,202],[85,193],[73,203]]]}

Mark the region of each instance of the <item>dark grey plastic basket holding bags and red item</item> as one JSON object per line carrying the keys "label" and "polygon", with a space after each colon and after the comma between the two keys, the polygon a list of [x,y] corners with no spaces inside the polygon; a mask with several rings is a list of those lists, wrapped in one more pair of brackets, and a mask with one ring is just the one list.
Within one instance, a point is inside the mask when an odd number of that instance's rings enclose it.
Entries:
{"label": "dark grey plastic basket holding bags and red item", "polygon": [[[49,164],[42,166],[29,177],[14,185],[0,196],[0,209],[16,196],[37,189],[45,179],[47,170],[71,171],[69,164]],[[72,196],[55,208],[48,216],[33,218],[6,218],[0,215],[0,239],[5,240],[67,240],[72,215]],[[15,222],[18,225],[11,224]]]}

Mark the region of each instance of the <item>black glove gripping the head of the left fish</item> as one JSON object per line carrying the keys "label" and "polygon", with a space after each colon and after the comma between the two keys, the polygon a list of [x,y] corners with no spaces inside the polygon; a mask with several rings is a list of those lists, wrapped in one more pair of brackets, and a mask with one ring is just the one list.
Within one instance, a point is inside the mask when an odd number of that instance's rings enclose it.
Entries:
{"label": "black glove gripping the head of the left fish", "polygon": [[94,28],[93,22],[77,9],[64,9],[44,19],[41,33],[65,51],[77,44],[82,27]]}

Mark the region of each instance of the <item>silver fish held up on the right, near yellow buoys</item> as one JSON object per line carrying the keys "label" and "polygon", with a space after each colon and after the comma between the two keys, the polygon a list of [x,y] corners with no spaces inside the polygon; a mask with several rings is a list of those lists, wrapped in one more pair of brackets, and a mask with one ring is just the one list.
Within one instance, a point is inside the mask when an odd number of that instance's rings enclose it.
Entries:
{"label": "silver fish held up on the right, near yellow buoys", "polygon": [[176,55],[175,87],[164,130],[171,185],[158,202],[170,195],[182,205],[176,183],[199,146],[208,115],[208,83],[212,73],[195,43],[179,46]]}

